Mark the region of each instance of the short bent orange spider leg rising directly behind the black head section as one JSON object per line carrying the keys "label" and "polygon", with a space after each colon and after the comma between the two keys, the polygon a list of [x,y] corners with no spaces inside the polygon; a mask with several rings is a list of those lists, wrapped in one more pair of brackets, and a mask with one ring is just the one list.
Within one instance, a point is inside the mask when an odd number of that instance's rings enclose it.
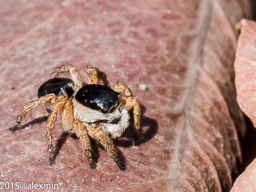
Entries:
{"label": "short bent orange spider leg rising directly behind the black head section", "polygon": [[107,75],[100,71],[96,67],[90,67],[87,69],[88,74],[88,84],[99,84],[99,80],[103,81],[104,85],[109,85]]}

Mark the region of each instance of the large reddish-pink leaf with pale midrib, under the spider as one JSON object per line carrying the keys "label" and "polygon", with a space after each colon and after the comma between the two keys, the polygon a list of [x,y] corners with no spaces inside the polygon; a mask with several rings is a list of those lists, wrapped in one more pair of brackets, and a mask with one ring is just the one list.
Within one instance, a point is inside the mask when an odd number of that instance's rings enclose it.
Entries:
{"label": "large reddish-pink leaf with pale midrib, under the spider", "polygon": [[[63,191],[231,188],[241,161],[238,134],[245,134],[233,83],[234,26],[250,17],[247,0],[1,5],[1,181],[54,182]],[[47,166],[45,123],[26,124],[46,115],[42,107],[27,115],[25,129],[9,132],[22,105],[37,99],[37,88],[66,62],[81,68],[84,82],[86,66],[98,66],[112,85],[127,83],[145,107],[143,143],[116,141],[125,172],[101,149],[91,170],[71,137]],[[55,140],[61,131],[57,121]]]}

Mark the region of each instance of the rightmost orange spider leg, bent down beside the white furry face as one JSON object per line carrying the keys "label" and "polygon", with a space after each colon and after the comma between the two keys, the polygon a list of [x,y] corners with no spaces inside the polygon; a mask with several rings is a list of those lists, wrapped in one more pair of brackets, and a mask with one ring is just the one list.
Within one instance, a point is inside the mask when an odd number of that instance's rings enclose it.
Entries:
{"label": "rightmost orange spider leg, bent down beside the white furry face", "polygon": [[133,108],[134,126],[136,130],[135,140],[137,140],[141,132],[141,105],[139,100],[132,95],[131,89],[122,82],[117,82],[111,89],[118,93],[123,92],[125,94],[125,107],[127,110]]}

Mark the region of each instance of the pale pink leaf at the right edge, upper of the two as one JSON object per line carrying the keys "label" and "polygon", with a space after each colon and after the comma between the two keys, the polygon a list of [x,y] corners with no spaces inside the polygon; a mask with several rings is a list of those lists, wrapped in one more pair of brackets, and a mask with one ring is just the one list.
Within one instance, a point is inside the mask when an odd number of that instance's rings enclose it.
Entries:
{"label": "pale pink leaf at the right edge, upper of the two", "polygon": [[256,125],[256,22],[241,20],[236,60],[237,101],[241,110]]}

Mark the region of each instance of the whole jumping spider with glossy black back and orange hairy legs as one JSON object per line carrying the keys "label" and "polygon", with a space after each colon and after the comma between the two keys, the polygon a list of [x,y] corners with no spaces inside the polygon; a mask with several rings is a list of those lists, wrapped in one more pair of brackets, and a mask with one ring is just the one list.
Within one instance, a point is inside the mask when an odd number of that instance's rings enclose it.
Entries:
{"label": "whole jumping spider with glossy black back and orange hairy legs", "polygon": [[[69,72],[71,79],[59,77],[60,73]],[[63,129],[70,134],[75,133],[85,151],[90,168],[96,168],[91,155],[90,139],[97,140],[113,157],[121,171],[125,170],[125,162],[120,158],[111,137],[119,137],[129,125],[128,111],[133,108],[135,139],[141,129],[141,106],[133,97],[130,88],[117,82],[109,87],[105,73],[95,67],[87,69],[88,84],[82,85],[81,75],[76,66],[68,64],[57,67],[52,79],[44,82],[38,89],[38,100],[27,103],[15,125],[15,131],[22,118],[31,109],[43,105],[51,110],[46,123],[47,151],[49,165],[54,163],[52,129],[56,118],[61,118]],[[103,85],[99,84],[102,80]]]}

